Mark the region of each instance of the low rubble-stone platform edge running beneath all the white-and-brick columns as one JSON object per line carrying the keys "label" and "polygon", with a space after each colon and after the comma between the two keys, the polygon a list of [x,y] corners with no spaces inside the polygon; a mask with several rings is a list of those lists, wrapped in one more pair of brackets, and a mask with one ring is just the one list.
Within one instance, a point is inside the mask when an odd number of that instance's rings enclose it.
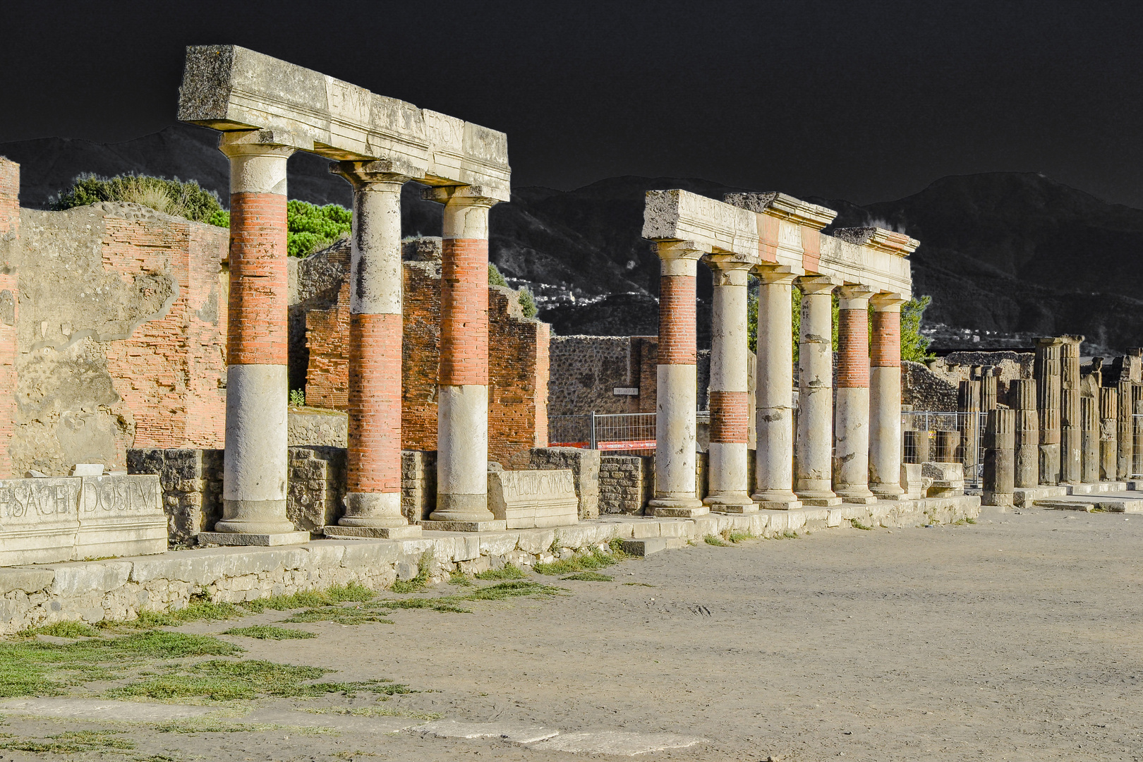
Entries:
{"label": "low rubble-stone platform edge running beneath all the white-and-brick columns", "polygon": [[761,511],[698,519],[615,516],[558,529],[505,532],[432,532],[409,540],[317,540],[294,547],[213,547],[162,555],[0,569],[0,634],[56,621],[134,619],[139,611],[185,608],[193,596],[214,602],[327,589],[355,583],[384,589],[416,576],[424,559],[430,581],[505,563],[530,567],[606,548],[615,538],[666,538],[669,548],[706,535],[744,531],[776,538],[849,527],[887,528],[952,523],[980,514],[980,498],[927,498],[842,505],[837,508]]}

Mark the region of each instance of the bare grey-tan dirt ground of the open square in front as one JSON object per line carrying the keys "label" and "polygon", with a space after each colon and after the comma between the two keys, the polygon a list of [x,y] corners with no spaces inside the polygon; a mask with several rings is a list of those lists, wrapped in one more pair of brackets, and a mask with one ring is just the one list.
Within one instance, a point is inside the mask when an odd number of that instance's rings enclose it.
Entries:
{"label": "bare grey-tan dirt ground of the open square in front", "polygon": [[[974,526],[703,544],[606,571],[615,581],[557,581],[570,594],[474,613],[400,610],[392,625],[296,625],[315,640],[233,640],[250,658],[421,691],[311,708],[705,739],[634,759],[1143,760],[1143,515],[991,513]],[[134,756],[73,760],[597,759],[352,720],[326,735],[175,733],[9,714],[0,731],[118,728],[137,744]],[[56,757],[0,752],[33,759]]]}

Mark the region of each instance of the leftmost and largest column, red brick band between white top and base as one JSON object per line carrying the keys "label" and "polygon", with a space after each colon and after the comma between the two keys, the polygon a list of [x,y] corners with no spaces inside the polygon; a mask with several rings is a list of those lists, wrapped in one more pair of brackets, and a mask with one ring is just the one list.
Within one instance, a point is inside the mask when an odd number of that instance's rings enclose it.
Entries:
{"label": "leftmost and largest column, red brick band between white top and base", "polygon": [[223,518],[201,540],[305,543],[286,516],[286,161],[269,131],[223,133],[230,159],[230,299]]}

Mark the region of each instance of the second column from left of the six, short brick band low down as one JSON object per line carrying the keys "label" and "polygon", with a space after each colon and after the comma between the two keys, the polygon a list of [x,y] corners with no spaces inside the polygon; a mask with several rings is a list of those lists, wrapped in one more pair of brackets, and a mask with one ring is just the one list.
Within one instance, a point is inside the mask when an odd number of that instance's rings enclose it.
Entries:
{"label": "second column from left of the six, short brick band low down", "polygon": [[711,319],[709,491],[703,500],[716,511],[758,510],[746,480],[750,392],[746,344],[746,279],[752,264],[730,255],[705,258],[714,282]]}

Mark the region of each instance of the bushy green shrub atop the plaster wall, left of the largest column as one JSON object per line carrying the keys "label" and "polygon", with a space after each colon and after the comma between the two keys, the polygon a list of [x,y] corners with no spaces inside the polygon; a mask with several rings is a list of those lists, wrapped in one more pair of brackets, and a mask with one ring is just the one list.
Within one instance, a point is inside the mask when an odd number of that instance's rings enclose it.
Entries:
{"label": "bushy green shrub atop the plaster wall, left of the largest column", "polygon": [[99,201],[128,201],[150,207],[176,217],[195,222],[211,222],[222,212],[222,204],[214,191],[199,186],[198,181],[181,182],[177,177],[149,175],[115,175],[99,177],[85,174],[72,181],[69,189],[51,196],[53,209],[86,207]]}

